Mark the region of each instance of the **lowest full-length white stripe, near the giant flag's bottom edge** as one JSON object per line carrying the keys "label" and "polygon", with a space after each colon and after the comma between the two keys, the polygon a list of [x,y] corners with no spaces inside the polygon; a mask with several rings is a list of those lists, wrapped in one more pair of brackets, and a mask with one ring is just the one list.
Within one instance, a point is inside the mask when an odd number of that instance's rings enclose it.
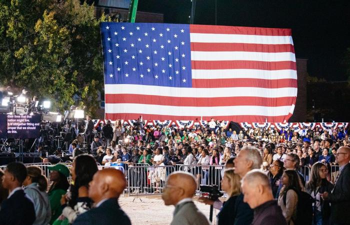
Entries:
{"label": "lowest full-length white stripe, near the giant flag's bottom edge", "polygon": [[266,107],[256,105],[239,106],[216,106],[216,107],[194,107],[194,106],[169,106],[156,104],[135,103],[106,103],[105,113],[140,113],[140,114],[168,114],[175,116],[218,116],[218,115],[264,115],[280,116],[287,115],[291,106]]}

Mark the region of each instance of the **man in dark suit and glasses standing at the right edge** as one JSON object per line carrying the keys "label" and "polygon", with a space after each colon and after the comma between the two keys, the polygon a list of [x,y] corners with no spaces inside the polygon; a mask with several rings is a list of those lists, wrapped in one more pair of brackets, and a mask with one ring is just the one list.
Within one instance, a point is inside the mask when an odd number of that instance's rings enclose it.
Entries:
{"label": "man in dark suit and glasses standing at the right edge", "polygon": [[330,202],[330,224],[350,224],[347,217],[350,208],[350,147],[340,147],[335,153],[335,161],[339,164],[339,174],[334,187],[330,193],[323,192],[321,197]]}

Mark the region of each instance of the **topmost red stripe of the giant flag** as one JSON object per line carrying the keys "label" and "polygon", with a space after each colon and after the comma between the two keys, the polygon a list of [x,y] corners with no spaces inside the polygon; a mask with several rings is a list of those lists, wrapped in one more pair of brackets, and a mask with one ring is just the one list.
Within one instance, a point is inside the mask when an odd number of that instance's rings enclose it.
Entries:
{"label": "topmost red stripe of the giant flag", "polygon": [[290,36],[291,29],[245,26],[189,25],[191,33],[247,34],[264,36]]}

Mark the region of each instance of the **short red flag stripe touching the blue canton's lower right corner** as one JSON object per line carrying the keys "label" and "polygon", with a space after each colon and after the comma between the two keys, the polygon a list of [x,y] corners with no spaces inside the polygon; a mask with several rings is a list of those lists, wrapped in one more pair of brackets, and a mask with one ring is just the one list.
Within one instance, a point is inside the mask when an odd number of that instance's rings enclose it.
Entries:
{"label": "short red flag stripe touching the blue canton's lower right corner", "polygon": [[197,87],[197,88],[210,88],[210,87],[211,88],[217,88],[217,87],[262,87],[262,88],[297,87],[297,80],[296,79],[254,79],[254,78],[192,79],[192,87]]}

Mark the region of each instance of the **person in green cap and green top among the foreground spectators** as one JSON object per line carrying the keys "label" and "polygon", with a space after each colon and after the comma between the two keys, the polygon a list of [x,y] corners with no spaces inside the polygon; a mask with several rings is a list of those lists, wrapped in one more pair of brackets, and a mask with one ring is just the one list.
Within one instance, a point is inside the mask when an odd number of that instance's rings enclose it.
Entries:
{"label": "person in green cap and green top among the foreground spectators", "polygon": [[63,194],[67,192],[69,183],[67,177],[69,176],[69,169],[63,164],[56,164],[52,167],[48,167],[50,170],[50,180],[53,181],[50,189],[48,190],[48,199],[51,205],[51,220],[50,224],[56,220],[56,218],[62,213],[62,207],[60,199]]}

